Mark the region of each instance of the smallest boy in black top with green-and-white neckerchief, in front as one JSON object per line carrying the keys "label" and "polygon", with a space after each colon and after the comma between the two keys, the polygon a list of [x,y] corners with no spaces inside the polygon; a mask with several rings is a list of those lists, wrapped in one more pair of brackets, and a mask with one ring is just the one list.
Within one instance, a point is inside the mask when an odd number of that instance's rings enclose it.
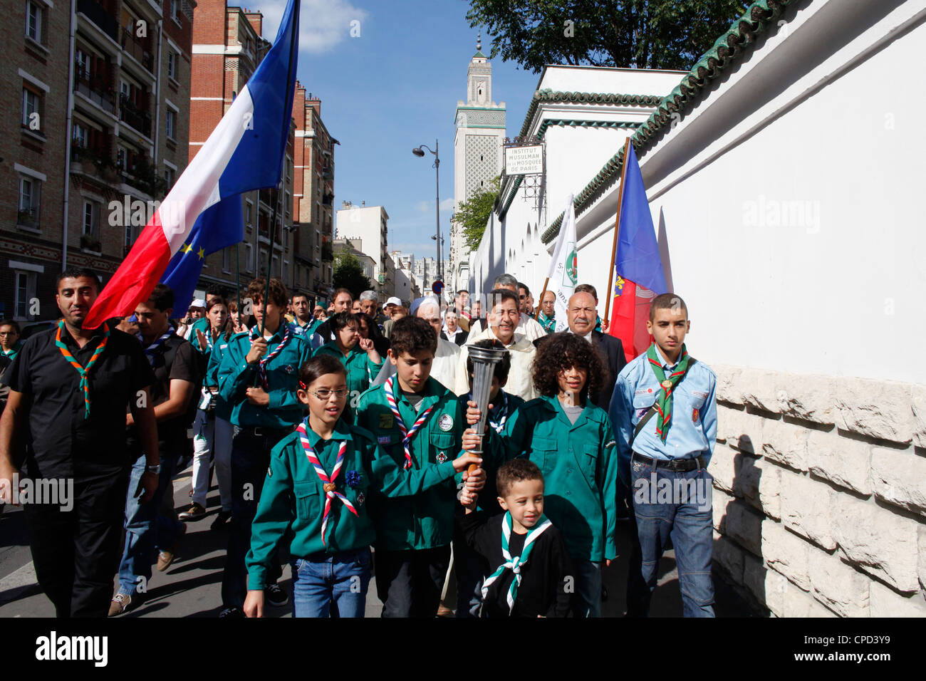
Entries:
{"label": "smallest boy in black top with green-and-white neckerchief, in front", "polygon": [[460,521],[470,547],[483,559],[484,617],[565,617],[575,590],[563,536],[544,516],[544,476],[527,459],[507,461],[496,480],[498,503],[507,511],[488,520],[464,487]]}

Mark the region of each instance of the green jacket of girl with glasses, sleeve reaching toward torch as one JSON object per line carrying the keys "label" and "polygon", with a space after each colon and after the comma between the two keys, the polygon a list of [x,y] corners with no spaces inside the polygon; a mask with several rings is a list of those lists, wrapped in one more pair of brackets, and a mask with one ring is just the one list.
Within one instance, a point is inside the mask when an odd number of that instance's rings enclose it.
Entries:
{"label": "green jacket of girl with glasses, sleeve reaching toward torch", "polygon": [[[267,586],[267,569],[277,544],[287,531],[292,533],[290,556],[307,558],[317,553],[338,553],[368,547],[376,538],[369,514],[372,493],[385,497],[415,495],[454,476],[452,460],[421,469],[403,471],[376,444],[373,435],[341,419],[330,440],[322,440],[307,428],[325,473],[331,474],[341,442],[346,441],[344,463],[334,484],[357,510],[354,515],[340,498],[332,499],[321,541],[321,519],[325,508],[324,484],[306,456],[298,433],[284,437],[270,453],[270,468],[260,494],[257,515],[251,525],[251,550],[247,554],[248,588]],[[359,473],[359,481],[355,481]],[[350,486],[348,482],[354,482]]]}

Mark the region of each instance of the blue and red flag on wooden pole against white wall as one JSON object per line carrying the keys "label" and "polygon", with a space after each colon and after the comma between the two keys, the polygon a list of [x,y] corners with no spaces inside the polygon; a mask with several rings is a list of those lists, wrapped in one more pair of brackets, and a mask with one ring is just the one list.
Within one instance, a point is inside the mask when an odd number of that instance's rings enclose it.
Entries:
{"label": "blue and red flag on wooden pole against white wall", "polygon": [[651,342],[646,331],[649,304],[669,293],[659,258],[659,245],[649,201],[633,145],[627,145],[626,170],[620,186],[618,248],[614,259],[614,290],[607,333],[620,339],[630,361],[646,351]]}

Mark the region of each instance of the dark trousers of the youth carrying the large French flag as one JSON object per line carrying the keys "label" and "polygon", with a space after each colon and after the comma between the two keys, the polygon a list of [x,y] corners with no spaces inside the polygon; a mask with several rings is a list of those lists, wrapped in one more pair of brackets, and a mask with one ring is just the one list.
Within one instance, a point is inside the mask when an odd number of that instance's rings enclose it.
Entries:
{"label": "dark trousers of the youth carrying the large French flag", "polygon": [[[232,438],[232,523],[229,527],[229,548],[222,573],[222,605],[243,608],[247,594],[247,568],[244,557],[251,548],[251,523],[257,515],[260,492],[267,479],[270,450],[282,435],[254,435],[235,426]],[[285,539],[284,539],[285,541]],[[282,569],[280,558],[273,552],[267,573],[267,585],[276,584]]]}

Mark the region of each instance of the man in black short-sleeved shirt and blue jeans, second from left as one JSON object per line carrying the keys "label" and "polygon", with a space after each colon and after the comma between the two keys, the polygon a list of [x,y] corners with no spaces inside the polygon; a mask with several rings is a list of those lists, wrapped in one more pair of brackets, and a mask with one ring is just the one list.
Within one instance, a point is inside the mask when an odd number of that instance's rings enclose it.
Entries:
{"label": "man in black short-sleeved shirt and blue jeans, second from left", "polygon": [[[133,494],[126,498],[125,547],[119,565],[119,591],[109,606],[111,616],[125,612],[130,606],[137,606],[144,599],[151,579],[151,563],[155,560],[155,544],[163,549],[157,560],[157,569],[163,572],[173,561],[176,542],[185,529],[185,525],[175,519],[157,522],[161,501],[172,489],[170,478],[186,439],[187,407],[198,382],[193,346],[177,335],[170,325],[173,304],[174,295],[170,287],[157,284],[151,297],[135,308],[144,355],[155,372],[151,404],[154,405],[157,422],[160,472],[154,498],[146,502],[139,501]],[[131,490],[132,483],[144,473],[145,460],[131,414],[126,418],[129,423],[127,444],[134,460],[129,484]],[[167,559],[163,558],[165,553]]]}

